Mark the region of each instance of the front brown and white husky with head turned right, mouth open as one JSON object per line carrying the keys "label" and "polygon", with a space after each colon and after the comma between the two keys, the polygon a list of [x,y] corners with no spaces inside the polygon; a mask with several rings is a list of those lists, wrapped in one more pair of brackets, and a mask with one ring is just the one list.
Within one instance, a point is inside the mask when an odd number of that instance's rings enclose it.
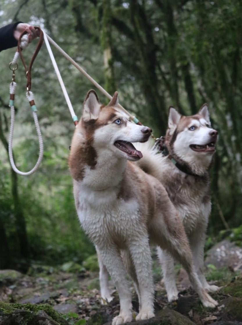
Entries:
{"label": "front brown and white husky with head turned right, mouth open", "polygon": [[88,92],[69,157],[79,220],[119,293],[120,314],[112,324],[132,320],[126,270],[139,296],[136,319],[154,316],[149,241],[184,266],[203,305],[214,307],[195,272],[181,217],[162,184],[134,163],[142,153],[131,142],[147,141],[152,130],[129,122],[117,96],[104,106],[94,90]]}

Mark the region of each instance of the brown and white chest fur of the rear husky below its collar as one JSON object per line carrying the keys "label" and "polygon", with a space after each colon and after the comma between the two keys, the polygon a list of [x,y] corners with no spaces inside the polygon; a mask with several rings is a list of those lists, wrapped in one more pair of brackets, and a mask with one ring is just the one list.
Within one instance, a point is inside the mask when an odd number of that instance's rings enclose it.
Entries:
{"label": "brown and white chest fur of the rear husky below its collar", "polygon": [[160,181],[179,211],[185,231],[189,235],[197,227],[208,222],[211,210],[209,175],[186,175],[168,159],[162,167]]}

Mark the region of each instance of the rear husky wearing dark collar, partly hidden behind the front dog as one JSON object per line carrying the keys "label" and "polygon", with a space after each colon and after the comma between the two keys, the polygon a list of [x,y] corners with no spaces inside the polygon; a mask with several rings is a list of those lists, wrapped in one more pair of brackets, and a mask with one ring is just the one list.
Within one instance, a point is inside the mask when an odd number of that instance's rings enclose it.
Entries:
{"label": "rear husky wearing dark collar, partly hidden behind the front dog", "polygon": [[[144,149],[140,161],[148,173],[158,178],[183,220],[190,242],[196,272],[203,289],[215,292],[203,275],[206,229],[211,211],[209,169],[215,152],[218,132],[211,128],[209,110],[204,104],[196,115],[182,116],[170,107],[168,130],[162,154]],[[168,301],[178,298],[173,257],[157,249],[162,265]]]}

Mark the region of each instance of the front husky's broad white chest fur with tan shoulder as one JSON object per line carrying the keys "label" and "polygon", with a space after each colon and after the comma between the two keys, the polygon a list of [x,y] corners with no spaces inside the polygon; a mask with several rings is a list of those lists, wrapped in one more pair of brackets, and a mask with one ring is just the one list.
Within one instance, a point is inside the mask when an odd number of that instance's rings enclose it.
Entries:
{"label": "front husky's broad white chest fur with tan shoulder", "polygon": [[84,184],[85,179],[74,180],[79,220],[84,231],[99,247],[108,241],[125,247],[129,238],[137,237],[144,231],[147,216],[152,215],[152,191],[143,184],[142,175],[137,175],[138,167],[131,163],[127,165],[121,173],[121,182],[104,190],[89,188]]}

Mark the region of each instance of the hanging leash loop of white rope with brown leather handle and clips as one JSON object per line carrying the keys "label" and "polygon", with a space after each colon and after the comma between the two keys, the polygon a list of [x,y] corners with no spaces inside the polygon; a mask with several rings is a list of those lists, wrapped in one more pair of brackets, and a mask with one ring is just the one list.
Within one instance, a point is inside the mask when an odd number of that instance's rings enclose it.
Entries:
{"label": "hanging leash loop of white rope with brown leather handle and clips", "polygon": [[[19,175],[22,175],[22,176],[28,176],[28,175],[31,175],[33,174],[36,169],[39,167],[41,161],[42,161],[42,158],[43,158],[43,153],[44,153],[44,145],[43,145],[43,139],[42,139],[42,136],[41,136],[41,131],[40,131],[40,126],[39,126],[39,122],[38,122],[38,117],[37,117],[37,107],[35,105],[35,102],[34,102],[34,95],[32,93],[32,91],[30,91],[31,89],[31,69],[32,69],[32,65],[33,65],[33,62],[42,46],[42,43],[43,43],[43,32],[41,31],[41,29],[39,27],[35,27],[36,29],[39,29],[40,31],[40,40],[39,40],[39,43],[36,47],[36,50],[33,54],[33,57],[30,61],[30,64],[29,64],[29,67],[27,68],[25,62],[24,62],[24,59],[23,59],[23,56],[22,56],[22,50],[24,48],[26,48],[28,46],[28,36],[25,35],[26,32],[23,32],[20,36],[19,36],[19,42],[18,42],[18,49],[17,51],[15,52],[15,55],[14,55],[14,58],[13,58],[13,61],[10,62],[9,64],[9,68],[10,70],[12,70],[12,81],[10,83],[10,86],[9,86],[9,93],[10,93],[10,100],[9,100],[9,107],[10,107],[10,110],[11,110],[11,123],[10,123],[10,132],[9,132],[9,144],[8,144],[8,155],[9,155],[9,160],[10,160],[10,164],[13,168],[13,170],[19,174]],[[27,92],[26,92],[26,97],[30,103],[30,106],[31,106],[31,110],[32,110],[32,114],[33,114],[33,119],[34,119],[34,124],[35,124],[35,128],[36,128],[36,132],[37,132],[37,136],[38,136],[38,141],[39,141],[39,157],[38,157],[38,160],[35,164],[35,166],[29,171],[29,172],[21,172],[15,165],[14,163],[14,159],[13,159],[13,132],[14,132],[14,122],[15,122],[15,108],[14,108],[14,98],[15,98],[15,92],[16,92],[16,87],[17,87],[17,84],[15,82],[15,71],[18,69],[18,64],[17,64],[17,60],[18,58],[21,58],[22,62],[23,62],[23,65],[24,65],[24,68],[25,68],[25,71],[26,71],[26,78],[27,78],[27,85],[26,85],[26,88],[27,88]],[[16,67],[15,68],[11,68],[12,64],[15,64]]]}

